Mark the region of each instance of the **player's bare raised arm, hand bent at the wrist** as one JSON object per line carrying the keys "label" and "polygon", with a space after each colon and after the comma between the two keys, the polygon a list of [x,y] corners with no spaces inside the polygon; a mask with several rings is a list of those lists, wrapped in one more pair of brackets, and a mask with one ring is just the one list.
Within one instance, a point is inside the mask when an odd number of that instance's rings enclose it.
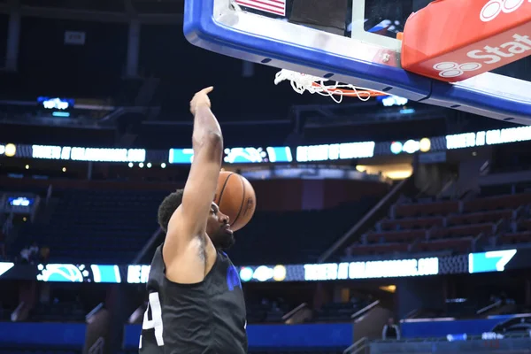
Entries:
{"label": "player's bare raised arm, hand bent at the wrist", "polygon": [[[202,238],[205,235],[207,219],[212,212],[212,201],[221,168],[223,137],[218,120],[210,108],[208,94],[211,91],[212,87],[197,92],[190,102],[190,112],[194,114],[192,135],[194,160],[182,194],[182,203],[173,213],[166,232],[163,255],[168,270],[171,270],[176,258],[181,258],[182,261],[183,257],[190,257],[191,263],[196,263],[195,259],[191,258],[200,258],[199,254],[190,255],[189,253],[195,252],[198,247],[200,248],[200,243],[204,242]],[[181,261],[177,259],[180,268],[182,267]],[[190,262],[188,265],[192,266]],[[200,276],[198,276],[201,279],[196,279],[196,281],[201,281],[204,276],[204,272],[199,273]],[[166,275],[170,274],[166,273]],[[189,281],[194,281],[194,279]]]}

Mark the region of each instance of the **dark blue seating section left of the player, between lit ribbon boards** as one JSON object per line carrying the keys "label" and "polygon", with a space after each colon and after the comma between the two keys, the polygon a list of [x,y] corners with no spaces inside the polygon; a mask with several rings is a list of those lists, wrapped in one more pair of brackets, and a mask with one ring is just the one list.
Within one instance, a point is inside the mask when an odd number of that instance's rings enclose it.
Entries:
{"label": "dark blue seating section left of the player, between lit ribbon boards", "polygon": [[127,263],[157,227],[160,191],[69,190],[45,222],[23,227],[15,252],[30,242],[50,247],[55,262]]}

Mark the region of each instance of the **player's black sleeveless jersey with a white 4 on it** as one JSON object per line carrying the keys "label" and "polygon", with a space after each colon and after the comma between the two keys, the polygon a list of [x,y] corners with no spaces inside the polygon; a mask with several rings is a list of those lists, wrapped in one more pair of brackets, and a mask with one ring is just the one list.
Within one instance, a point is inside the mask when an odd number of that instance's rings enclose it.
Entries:
{"label": "player's black sleeveless jersey with a white 4 on it", "polygon": [[158,246],[148,292],[140,354],[247,353],[242,283],[225,253],[218,251],[204,281],[178,284],[166,279],[162,245]]}

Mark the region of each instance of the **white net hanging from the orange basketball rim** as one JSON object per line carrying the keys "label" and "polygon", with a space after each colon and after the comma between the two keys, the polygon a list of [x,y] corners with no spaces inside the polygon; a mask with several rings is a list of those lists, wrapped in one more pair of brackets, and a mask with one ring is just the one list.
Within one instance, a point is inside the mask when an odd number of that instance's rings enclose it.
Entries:
{"label": "white net hanging from the orange basketball rim", "polygon": [[[341,104],[342,102],[343,92],[341,89],[351,89],[362,101],[367,101],[371,98],[370,96],[360,96],[358,94],[358,89],[362,88],[357,88],[353,85],[340,83],[338,81],[329,81],[328,79],[308,75],[306,73],[296,73],[286,69],[282,69],[280,72],[276,73],[274,77],[274,84],[278,85],[285,80],[290,81],[291,87],[295,90],[295,92],[301,95],[304,94],[304,91],[308,91],[311,94],[330,96],[338,104]],[[325,84],[327,81],[334,83],[327,85]]]}

